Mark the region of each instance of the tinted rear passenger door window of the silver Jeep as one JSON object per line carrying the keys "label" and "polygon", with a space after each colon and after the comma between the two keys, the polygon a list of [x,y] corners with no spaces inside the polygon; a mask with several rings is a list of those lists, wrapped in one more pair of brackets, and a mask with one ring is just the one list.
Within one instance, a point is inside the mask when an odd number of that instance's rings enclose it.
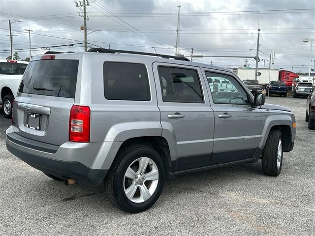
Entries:
{"label": "tinted rear passenger door window of the silver Jeep", "polygon": [[183,68],[158,67],[165,102],[203,102],[197,71]]}

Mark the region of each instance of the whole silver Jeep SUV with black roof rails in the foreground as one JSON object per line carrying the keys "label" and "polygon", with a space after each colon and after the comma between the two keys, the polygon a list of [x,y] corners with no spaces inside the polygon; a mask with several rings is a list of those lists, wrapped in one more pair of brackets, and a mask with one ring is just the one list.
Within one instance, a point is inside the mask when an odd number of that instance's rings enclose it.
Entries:
{"label": "whole silver Jeep SUV with black roof rails in the foreground", "polygon": [[[216,89],[218,80],[233,91]],[[264,174],[278,176],[295,125],[288,108],[264,105],[230,70],[91,49],[32,59],[6,147],[67,184],[105,182],[116,206],[140,212],[157,201],[165,177],[259,159]]]}

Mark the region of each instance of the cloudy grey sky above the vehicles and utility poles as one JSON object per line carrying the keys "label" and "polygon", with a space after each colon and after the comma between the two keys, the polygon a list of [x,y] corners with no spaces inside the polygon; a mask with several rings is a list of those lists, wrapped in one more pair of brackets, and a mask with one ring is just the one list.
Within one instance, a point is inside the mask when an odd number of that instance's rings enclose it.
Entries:
{"label": "cloudy grey sky above the vehicles and utility poles", "polygon": [[[83,1],[83,0],[82,0]],[[77,0],[80,4],[80,1]],[[161,54],[175,53],[177,5],[180,11],[181,53],[208,56],[255,56],[259,23],[260,50],[275,51],[274,68],[308,71],[315,39],[314,0],[90,0],[88,43],[98,47]],[[80,30],[82,9],[75,0],[0,0],[0,59],[10,55],[8,20],[13,48],[22,59],[48,47],[54,51],[84,51]],[[259,19],[259,21],[258,21]],[[97,30],[97,31],[94,31]],[[67,45],[73,45],[69,47]],[[65,46],[61,46],[65,45]],[[61,46],[52,48],[52,46]],[[7,50],[7,51],[3,51]],[[313,52],[315,51],[315,45]],[[260,59],[269,60],[259,54]],[[224,67],[244,66],[245,59],[204,57],[194,61]],[[312,56],[314,66],[315,53]],[[254,59],[249,58],[250,67]],[[266,67],[269,61],[266,61]],[[263,67],[259,62],[259,67]]]}

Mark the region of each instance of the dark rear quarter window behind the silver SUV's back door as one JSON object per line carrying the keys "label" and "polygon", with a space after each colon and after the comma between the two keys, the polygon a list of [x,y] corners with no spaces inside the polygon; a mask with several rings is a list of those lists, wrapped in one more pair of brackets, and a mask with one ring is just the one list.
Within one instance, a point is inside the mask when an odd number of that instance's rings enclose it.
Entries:
{"label": "dark rear quarter window behind the silver SUV's back door", "polygon": [[104,94],[108,100],[150,101],[150,85],[144,64],[104,63]]}

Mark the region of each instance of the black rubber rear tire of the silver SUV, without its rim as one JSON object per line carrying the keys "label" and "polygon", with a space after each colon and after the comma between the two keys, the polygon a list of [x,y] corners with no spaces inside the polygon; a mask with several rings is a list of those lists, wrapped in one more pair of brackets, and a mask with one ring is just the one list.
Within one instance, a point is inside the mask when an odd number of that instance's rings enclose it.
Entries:
{"label": "black rubber rear tire of the silver SUV, without its rim", "polygon": [[[151,197],[142,203],[130,201],[124,190],[124,177],[127,168],[139,157],[149,157],[158,167],[158,185]],[[152,207],[162,192],[165,180],[165,167],[158,152],[147,146],[128,146],[119,151],[105,179],[105,186],[111,202],[116,207],[131,213],[138,213]]]}

